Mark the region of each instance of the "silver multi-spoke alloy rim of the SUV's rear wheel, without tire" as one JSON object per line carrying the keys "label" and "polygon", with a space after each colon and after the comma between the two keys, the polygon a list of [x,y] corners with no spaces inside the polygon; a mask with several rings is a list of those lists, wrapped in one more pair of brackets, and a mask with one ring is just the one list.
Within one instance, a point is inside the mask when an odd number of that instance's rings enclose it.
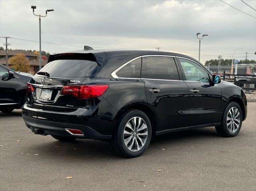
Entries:
{"label": "silver multi-spoke alloy rim of the SUV's rear wheel, without tire", "polygon": [[124,144],[132,152],[143,148],[148,138],[148,126],[141,117],[133,117],[126,123],[123,133]]}

